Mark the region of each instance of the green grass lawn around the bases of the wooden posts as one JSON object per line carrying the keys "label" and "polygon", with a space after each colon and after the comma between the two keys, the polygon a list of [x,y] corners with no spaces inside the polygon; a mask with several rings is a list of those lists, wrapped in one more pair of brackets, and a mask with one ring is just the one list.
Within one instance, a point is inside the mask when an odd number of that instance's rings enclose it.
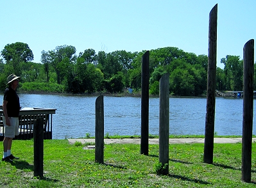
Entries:
{"label": "green grass lawn around the bases of the wooden posts", "polygon": [[[3,151],[3,142],[0,143]],[[33,176],[33,140],[13,141],[21,159],[0,162],[0,187],[255,187],[256,143],[252,145],[252,182],[241,181],[241,143],[215,144],[214,163],[203,163],[203,144],[169,145],[169,175],[157,175],[158,145],[149,155],[140,145],[105,145],[105,164],[94,150],[67,139],[44,141],[44,178]]]}

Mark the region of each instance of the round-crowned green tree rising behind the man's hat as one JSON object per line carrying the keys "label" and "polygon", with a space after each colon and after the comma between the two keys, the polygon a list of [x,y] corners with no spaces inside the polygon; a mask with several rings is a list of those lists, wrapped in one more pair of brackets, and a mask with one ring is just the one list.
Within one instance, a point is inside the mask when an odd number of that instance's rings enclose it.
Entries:
{"label": "round-crowned green tree rising behind the man's hat", "polygon": [[6,62],[6,74],[15,73],[21,75],[21,62],[32,61],[34,59],[33,52],[26,43],[15,42],[7,44],[4,46],[3,51],[1,51],[1,56],[3,56]]}

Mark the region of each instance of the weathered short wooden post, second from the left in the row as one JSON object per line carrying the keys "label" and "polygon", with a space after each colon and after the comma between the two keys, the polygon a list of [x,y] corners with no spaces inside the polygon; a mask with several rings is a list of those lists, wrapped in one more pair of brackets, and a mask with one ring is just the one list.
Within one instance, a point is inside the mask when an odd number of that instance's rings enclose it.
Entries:
{"label": "weathered short wooden post, second from the left in the row", "polygon": [[103,95],[96,98],[95,105],[95,162],[104,164],[104,104]]}

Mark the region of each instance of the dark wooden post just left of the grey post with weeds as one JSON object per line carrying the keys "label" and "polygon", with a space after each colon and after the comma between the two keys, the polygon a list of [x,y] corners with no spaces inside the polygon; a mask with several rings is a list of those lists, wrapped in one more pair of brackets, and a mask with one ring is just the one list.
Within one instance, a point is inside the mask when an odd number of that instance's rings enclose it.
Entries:
{"label": "dark wooden post just left of the grey post with weeds", "polygon": [[149,51],[142,56],[141,65],[141,154],[148,155],[149,116]]}

